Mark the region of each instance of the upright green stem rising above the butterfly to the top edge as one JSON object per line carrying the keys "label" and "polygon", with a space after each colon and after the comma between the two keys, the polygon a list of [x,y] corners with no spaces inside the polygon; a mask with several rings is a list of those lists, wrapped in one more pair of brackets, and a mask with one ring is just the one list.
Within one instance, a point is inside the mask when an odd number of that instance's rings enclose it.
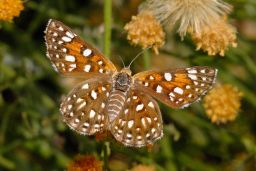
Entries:
{"label": "upright green stem rising above the butterfly to the top edge", "polygon": [[104,54],[106,57],[110,58],[110,48],[111,48],[111,18],[112,18],[112,1],[105,0],[104,3]]}

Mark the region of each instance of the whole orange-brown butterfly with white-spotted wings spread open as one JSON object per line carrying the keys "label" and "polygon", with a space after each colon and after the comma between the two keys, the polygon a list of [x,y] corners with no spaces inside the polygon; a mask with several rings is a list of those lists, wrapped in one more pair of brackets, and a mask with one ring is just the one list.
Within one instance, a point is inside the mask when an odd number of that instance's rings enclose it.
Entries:
{"label": "whole orange-brown butterfly with white-spotted wings spread open", "polygon": [[64,76],[82,77],[61,102],[64,122],[76,132],[93,135],[110,131],[125,146],[143,147],[163,136],[155,99],[171,108],[184,108],[213,85],[217,69],[207,66],[121,71],[96,48],[60,21],[50,19],[45,30],[47,56]]}

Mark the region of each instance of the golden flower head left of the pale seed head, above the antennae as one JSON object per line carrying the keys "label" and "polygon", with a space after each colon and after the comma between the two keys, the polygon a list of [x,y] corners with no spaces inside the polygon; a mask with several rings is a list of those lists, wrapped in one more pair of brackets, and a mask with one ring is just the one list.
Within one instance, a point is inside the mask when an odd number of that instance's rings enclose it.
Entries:
{"label": "golden flower head left of the pale seed head, above the antennae", "polygon": [[161,24],[150,13],[143,11],[127,23],[124,29],[128,32],[127,39],[131,44],[142,48],[152,47],[158,54],[158,48],[164,45],[165,33]]}

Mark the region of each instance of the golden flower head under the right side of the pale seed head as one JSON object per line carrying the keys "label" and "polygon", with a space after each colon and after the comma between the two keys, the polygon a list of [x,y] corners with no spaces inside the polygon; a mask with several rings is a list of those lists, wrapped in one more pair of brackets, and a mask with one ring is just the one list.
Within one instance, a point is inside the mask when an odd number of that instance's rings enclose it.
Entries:
{"label": "golden flower head under the right side of the pale seed head", "polygon": [[225,55],[229,46],[236,47],[236,30],[222,18],[211,26],[204,26],[200,33],[191,32],[197,50],[202,49],[208,55]]}

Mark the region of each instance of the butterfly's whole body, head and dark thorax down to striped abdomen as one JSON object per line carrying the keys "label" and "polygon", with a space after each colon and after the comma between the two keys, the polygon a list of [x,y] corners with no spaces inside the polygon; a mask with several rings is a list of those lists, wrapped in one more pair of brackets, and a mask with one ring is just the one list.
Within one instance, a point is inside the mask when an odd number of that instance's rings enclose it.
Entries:
{"label": "butterfly's whole body, head and dark thorax down to striped abdomen", "polygon": [[109,95],[109,103],[107,104],[110,123],[122,112],[131,83],[131,70],[128,68],[122,69],[113,76],[113,87]]}

